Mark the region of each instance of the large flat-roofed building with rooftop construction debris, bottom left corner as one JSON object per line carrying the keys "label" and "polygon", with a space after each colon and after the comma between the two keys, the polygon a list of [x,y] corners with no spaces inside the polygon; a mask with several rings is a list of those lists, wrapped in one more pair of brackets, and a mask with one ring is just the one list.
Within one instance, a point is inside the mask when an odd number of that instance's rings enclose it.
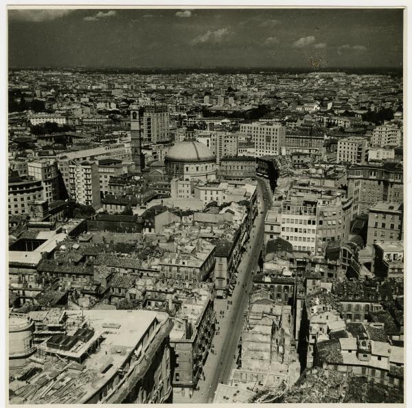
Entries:
{"label": "large flat-roofed building with rooftop construction debris, bottom left corner", "polygon": [[[44,379],[36,386],[39,392],[27,392],[25,403],[170,402],[169,317],[147,310],[71,310],[66,326],[66,334],[37,345],[35,357],[47,364],[26,371],[30,378],[40,370]],[[32,387],[19,378],[15,375],[10,387]],[[56,393],[62,387],[64,392]],[[10,403],[22,402],[10,394]]]}

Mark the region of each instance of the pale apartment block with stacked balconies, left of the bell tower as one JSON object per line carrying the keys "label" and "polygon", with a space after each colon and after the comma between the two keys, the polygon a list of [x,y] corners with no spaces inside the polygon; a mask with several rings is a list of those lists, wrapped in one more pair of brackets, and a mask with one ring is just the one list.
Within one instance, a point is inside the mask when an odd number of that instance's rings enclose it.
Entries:
{"label": "pale apartment block with stacked balconies, left of the bell tower", "polygon": [[94,161],[61,160],[60,171],[71,199],[100,208],[100,177]]}

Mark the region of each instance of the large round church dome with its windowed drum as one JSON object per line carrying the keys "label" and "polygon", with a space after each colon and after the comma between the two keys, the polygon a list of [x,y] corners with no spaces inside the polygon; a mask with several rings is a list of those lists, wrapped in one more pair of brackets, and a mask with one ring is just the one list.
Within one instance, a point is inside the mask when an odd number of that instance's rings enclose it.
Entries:
{"label": "large round church dome with its windowed drum", "polygon": [[169,179],[216,180],[216,156],[203,143],[181,141],[166,153],[165,170]]}

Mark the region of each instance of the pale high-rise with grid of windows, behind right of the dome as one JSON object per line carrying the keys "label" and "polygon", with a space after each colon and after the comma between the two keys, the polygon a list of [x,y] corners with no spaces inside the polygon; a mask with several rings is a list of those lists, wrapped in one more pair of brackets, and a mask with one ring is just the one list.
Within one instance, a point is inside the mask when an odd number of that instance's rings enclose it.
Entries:
{"label": "pale high-rise with grid of windows, behind right of the dome", "polygon": [[256,157],[280,155],[286,143],[286,127],[279,123],[253,122],[241,124],[240,133],[251,137]]}

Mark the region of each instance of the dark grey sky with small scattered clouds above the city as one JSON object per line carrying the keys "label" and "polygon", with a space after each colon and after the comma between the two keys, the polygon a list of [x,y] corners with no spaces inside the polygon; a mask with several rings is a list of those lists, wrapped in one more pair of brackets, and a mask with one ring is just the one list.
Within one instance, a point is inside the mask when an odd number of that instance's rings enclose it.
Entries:
{"label": "dark grey sky with small scattered clouds above the city", "polygon": [[402,9],[8,10],[9,67],[402,67]]}

